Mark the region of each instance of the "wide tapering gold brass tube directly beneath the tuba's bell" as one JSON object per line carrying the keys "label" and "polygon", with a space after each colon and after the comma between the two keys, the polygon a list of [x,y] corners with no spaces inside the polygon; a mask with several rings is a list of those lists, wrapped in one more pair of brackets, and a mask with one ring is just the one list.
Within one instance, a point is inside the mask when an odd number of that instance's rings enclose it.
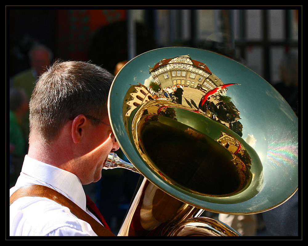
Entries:
{"label": "wide tapering gold brass tube directly beneath the tuba's bell", "polygon": [[198,210],[144,179],[119,236],[170,236],[175,225]]}

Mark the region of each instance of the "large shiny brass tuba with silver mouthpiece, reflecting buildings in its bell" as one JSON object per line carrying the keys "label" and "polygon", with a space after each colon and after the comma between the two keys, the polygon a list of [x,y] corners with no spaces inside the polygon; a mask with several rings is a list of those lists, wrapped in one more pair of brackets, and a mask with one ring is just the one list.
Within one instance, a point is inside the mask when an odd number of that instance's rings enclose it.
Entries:
{"label": "large shiny brass tuba with silver mouthpiece, reflecting buildings in its bell", "polygon": [[[167,92],[174,85],[181,104]],[[105,169],[132,166],[145,177],[121,236],[237,236],[198,214],[261,213],[298,189],[297,116],[269,83],[225,56],[185,47],[143,53],[115,76],[108,110],[132,164],[110,154]]]}

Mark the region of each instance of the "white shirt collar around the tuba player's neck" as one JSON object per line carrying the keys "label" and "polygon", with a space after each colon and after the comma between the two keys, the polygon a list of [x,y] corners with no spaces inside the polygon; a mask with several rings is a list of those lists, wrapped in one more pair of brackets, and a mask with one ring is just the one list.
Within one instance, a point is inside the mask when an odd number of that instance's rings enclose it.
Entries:
{"label": "white shirt collar around the tuba player's neck", "polygon": [[79,207],[86,209],[85,193],[79,178],[75,174],[35,160],[28,155],[25,156],[22,173],[61,190]]}

